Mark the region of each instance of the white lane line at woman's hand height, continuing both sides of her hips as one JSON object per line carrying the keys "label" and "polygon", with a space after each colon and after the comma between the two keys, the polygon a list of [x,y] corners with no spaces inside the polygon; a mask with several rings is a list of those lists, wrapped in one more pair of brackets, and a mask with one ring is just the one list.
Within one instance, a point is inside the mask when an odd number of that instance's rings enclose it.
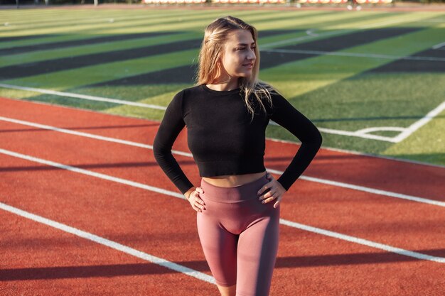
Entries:
{"label": "white lane line at woman's hand height, continuing both sides of her hips", "polygon": [[[129,186],[133,186],[133,187],[138,187],[144,190],[149,190],[149,191],[154,191],[154,192],[159,192],[161,194],[166,194],[166,195],[170,195],[173,197],[178,197],[178,195],[181,195],[181,198],[185,199],[185,197],[182,194],[176,194],[175,192],[171,192],[169,190],[163,190],[161,188],[157,188],[157,187],[151,187],[148,185],[144,185],[138,182],[133,182],[133,181],[129,181],[129,180],[124,180],[118,177],[111,177],[109,175],[104,175],[104,174],[100,174],[97,172],[91,172],[88,170],[83,170],[80,168],[75,168],[72,167],[70,165],[63,165],[61,163],[55,163],[53,161],[50,160],[43,160],[41,158],[35,158],[33,156],[29,156],[29,155],[24,155],[21,153],[16,153],[13,151],[9,151],[9,150],[5,150],[5,149],[1,149],[0,148],[0,153],[3,153],[5,155],[10,155],[16,158],[21,158],[21,159],[25,159],[25,160],[29,160],[29,161],[33,161],[35,163],[42,163],[43,165],[50,165],[53,166],[55,168],[60,168],[63,170],[70,170],[72,172],[79,172],[81,174],[85,174],[85,175],[89,175],[92,177],[98,177],[100,179],[104,179],[104,180],[109,180],[109,181],[113,181],[113,182],[118,182],[124,185],[129,185]],[[364,244],[365,246],[371,246],[372,248],[379,248],[385,251],[389,251],[389,250],[400,250],[399,254],[404,255],[404,256],[409,256],[409,257],[413,257],[413,258],[417,258],[417,259],[422,259],[422,260],[429,260],[429,261],[435,261],[435,262],[439,262],[439,263],[445,263],[445,258],[442,257],[436,257],[436,256],[429,256],[423,253],[417,253],[417,252],[413,252],[413,251],[407,251],[401,248],[395,248],[389,245],[385,245],[382,243],[375,243],[372,241],[368,241],[365,239],[359,239],[356,238],[355,236],[348,236],[345,234],[340,234],[337,232],[333,232],[333,231],[328,231],[326,229],[319,229],[313,226],[308,226],[308,225],[304,225],[304,224],[298,224],[296,222],[293,221],[288,221],[288,220],[284,220],[284,219],[280,219],[280,224],[284,224],[286,226],[291,226],[294,228],[298,228],[298,229],[304,229],[306,231],[310,231],[310,232],[314,232],[316,234],[321,234],[321,235],[328,235],[331,237],[336,237],[336,239],[345,239],[346,241],[350,241],[353,243],[358,243],[358,244]],[[336,236],[333,236],[333,235]],[[392,252],[392,251],[390,251]]]}

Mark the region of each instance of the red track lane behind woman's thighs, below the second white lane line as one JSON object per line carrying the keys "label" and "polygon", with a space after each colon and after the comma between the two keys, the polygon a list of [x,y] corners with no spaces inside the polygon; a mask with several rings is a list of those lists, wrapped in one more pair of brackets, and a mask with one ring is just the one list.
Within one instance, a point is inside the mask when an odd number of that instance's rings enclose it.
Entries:
{"label": "red track lane behind woman's thighs, below the second white lane line", "polygon": [[[0,160],[6,166],[33,165],[5,155],[0,155]],[[63,170],[2,175],[7,178],[2,191],[7,192],[9,204],[208,273],[195,234],[195,216],[181,199],[165,202],[159,194]],[[29,228],[32,231],[33,227]],[[296,291],[301,295],[366,295],[363,291],[375,295],[373,289],[383,288],[384,283],[394,285],[385,287],[387,295],[400,295],[405,288],[409,291],[405,295],[422,291],[434,295],[438,286],[431,281],[442,280],[439,263],[375,251],[285,226],[280,226],[280,236],[271,295],[294,295]],[[428,278],[424,278],[426,275]],[[168,280],[171,277],[176,275],[168,273]],[[407,278],[409,282],[401,280]],[[190,282],[187,279],[179,285]],[[163,279],[161,283],[168,286]],[[197,290],[209,292],[200,285],[189,291]]]}

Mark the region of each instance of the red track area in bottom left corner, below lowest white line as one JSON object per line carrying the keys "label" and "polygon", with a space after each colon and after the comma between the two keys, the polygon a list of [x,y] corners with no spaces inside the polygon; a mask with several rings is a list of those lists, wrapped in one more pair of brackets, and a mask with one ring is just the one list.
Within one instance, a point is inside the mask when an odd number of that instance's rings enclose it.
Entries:
{"label": "red track area in bottom left corner, below lowest white line", "polygon": [[[211,284],[0,210],[1,295],[209,295]],[[173,288],[174,287],[174,288]]]}

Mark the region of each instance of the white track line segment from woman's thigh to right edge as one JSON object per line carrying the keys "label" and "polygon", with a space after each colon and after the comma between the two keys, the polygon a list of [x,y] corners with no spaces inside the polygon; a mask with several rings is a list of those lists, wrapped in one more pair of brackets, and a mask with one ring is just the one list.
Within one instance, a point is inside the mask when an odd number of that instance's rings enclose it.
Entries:
{"label": "white track line segment from woman's thigh to right edge", "polygon": [[360,245],[370,246],[371,248],[380,248],[381,250],[385,250],[390,253],[397,253],[399,255],[409,256],[409,257],[413,257],[413,258],[417,258],[417,259],[421,259],[421,260],[434,261],[437,263],[445,263],[445,258],[443,258],[443,257],[430,256],[430,255],[426,255],[426,254],[422,254],[422,253],[408,251],[408,250],[404,250],[403,248],[396,248],[393,246],[385,245],[383,243],[375,243],[374,241],[368,241],[367,239],[359,239],[355,236],[339,234],[338,232],[329,231],[326,229],[320,229],[320,228],[313,227],[313,226],[307,226],[304,224],[299,224],[299,223],[287,221],[284,219],[279,219],[279,221],[281,224],[286,225],[286,226],[291,226],[291,227],[305,230],[305,231],[315,232],[317,234],[323,234],[324,236],[330,236],[335,239],[342,239],[343,241],[350,241],[351,243],[359,243]]}

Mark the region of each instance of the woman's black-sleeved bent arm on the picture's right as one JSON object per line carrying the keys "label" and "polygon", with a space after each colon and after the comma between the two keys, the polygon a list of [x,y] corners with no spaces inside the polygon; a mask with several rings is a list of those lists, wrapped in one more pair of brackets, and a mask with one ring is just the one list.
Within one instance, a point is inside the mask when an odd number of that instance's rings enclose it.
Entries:
{"label": "woman's black-sleeved bent arm on the picture's right", "polygon": [[286,128],[301,141],[301,146],[294,159],[277,179],[287,191],[306,170],[321,147],[321,133],[306,116],[295,109],[280,94],[272,94],[272,114],[269,118]]}

